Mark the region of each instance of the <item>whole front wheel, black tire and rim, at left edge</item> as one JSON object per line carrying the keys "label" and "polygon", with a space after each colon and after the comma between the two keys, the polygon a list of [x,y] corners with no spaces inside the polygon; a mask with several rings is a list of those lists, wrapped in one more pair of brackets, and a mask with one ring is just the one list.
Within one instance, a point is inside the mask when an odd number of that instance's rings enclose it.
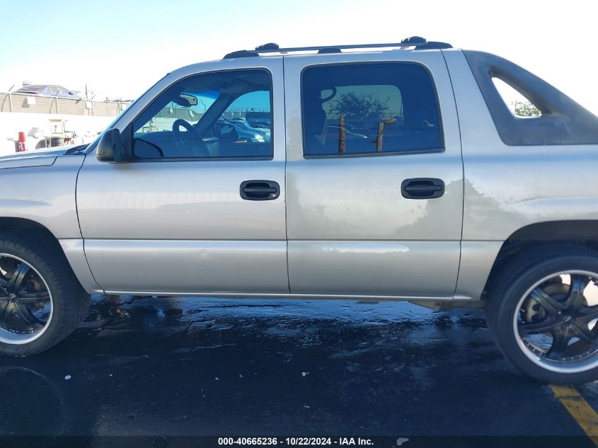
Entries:
{"label": "whole front wheel, black tire and rim, at left edge", "polygon": [[35,234],[0,235],[0,354],[56,345],[79,325],[89,299],[59,247]]}

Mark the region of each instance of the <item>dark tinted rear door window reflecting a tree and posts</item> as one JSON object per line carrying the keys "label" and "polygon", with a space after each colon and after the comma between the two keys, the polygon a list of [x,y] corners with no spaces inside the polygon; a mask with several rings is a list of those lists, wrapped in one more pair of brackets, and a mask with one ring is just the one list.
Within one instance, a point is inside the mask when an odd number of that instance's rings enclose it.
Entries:
{"label": "dark tinted rear door window reflecting a tree and posts", "polygon": [[304,154],[442,149],[436,91],[416,64],[339,64],[303,74]]}

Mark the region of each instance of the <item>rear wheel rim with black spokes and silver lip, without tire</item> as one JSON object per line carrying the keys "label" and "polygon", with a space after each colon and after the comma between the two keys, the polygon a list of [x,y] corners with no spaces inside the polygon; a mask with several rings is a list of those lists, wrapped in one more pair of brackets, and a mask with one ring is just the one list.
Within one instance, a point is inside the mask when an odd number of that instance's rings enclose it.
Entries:
{"label": "rear wheel rim with black spokes and silver lip, without tire", "polygon": [[519,300],[513,325],[519,348],[544,369],[598,367],[598,274],[572,270],[544,277]]}

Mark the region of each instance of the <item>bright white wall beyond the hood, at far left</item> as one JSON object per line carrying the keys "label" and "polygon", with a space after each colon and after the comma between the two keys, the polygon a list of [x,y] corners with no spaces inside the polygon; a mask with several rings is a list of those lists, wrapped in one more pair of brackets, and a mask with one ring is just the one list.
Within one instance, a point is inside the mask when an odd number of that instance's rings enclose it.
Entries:
{"label": "bright white wall beyond the hood, at far left", "polygon": [[[70,101],[70,100],[69,100]],[[115,117],[86,115],[67,115],[57,113],[8,113],[0,112],[0,156],[15,153],[15,141],[18,132],[25,132],[28,151],[42,147],[44,137],[51,137],[54,130],[50,120],[62,120],[64,130],[75,132],[74,143],[89,143],[110,125]],[[61,126],[62,123],[54,122]],[[40,149],[40,148],[38,148]]]}

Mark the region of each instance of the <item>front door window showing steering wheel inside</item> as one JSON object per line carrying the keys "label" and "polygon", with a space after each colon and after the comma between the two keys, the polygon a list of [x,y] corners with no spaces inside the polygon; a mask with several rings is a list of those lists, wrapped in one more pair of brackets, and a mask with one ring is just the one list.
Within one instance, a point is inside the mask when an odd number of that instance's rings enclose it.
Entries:
{"label": "front door window showing steering wheel inside", "polygon": [[138,159],[271,157],[271,81],[263,70],[225,71],[183,79],[133,123]]}

